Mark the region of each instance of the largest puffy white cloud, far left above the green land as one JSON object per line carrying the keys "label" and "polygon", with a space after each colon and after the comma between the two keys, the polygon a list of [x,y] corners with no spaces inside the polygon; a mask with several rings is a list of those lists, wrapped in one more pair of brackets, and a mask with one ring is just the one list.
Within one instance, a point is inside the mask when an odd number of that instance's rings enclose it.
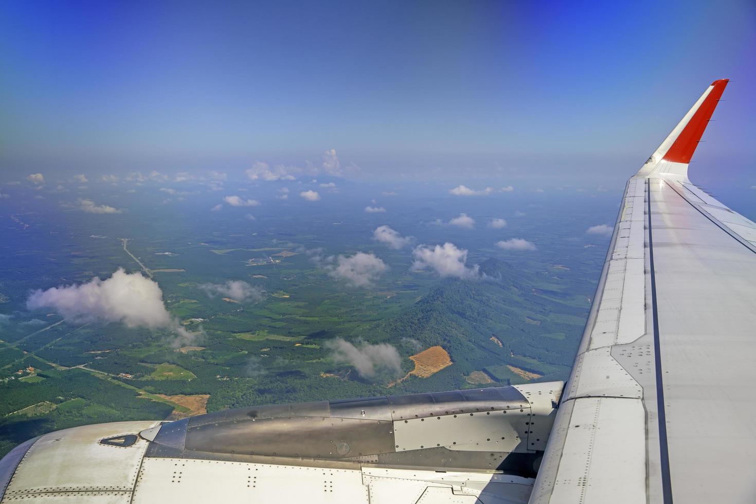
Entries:
{"label": "largest puffy white cloud, far left above the green land", "polygon": [[75,323],[120,322],[129,327],[172,329],[189,337],[163,304],[163,292],[154,280],[123,268],[110,278],[95,277],[79,285],[36,290],[26,300],[30,310],[48,308]]}

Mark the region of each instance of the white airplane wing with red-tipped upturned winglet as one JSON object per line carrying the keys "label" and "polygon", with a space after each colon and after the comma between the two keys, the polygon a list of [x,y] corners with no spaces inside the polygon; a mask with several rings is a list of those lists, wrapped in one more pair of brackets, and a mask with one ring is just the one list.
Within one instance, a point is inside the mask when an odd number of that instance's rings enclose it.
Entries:
{"label": "white airplane wing with red-tipped upturned winglet", "polygon": [[627,181],[530,502],[756,499],[756,224],[687,177],[727,82]]}

